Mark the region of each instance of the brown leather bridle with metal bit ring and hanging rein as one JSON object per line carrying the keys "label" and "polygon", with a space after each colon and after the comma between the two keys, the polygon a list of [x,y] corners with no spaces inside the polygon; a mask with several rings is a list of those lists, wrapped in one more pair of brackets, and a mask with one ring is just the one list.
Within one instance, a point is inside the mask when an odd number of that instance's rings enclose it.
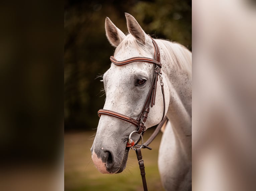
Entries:
{"label": "brown leather bridle with metal bit ring and hanging rein", "polygon": [[[107,110],[107,109],[100,109],[98,111],[98,116],[99,117],[101,115],[108,115],[108,116],[116,117],[118,119],[129,122],[129,123],[131,123],[131,124],[133,124],[134,126],[137,127],[136,131],[132,131],[130,133],[127,144],[126,144],[126,147],[131,147],[131,149],[136,151],[144,191],[147,191],[147,183],[146,183],[146,178],[145,178],[144,161],[143,161],[142,155],[141,155],[141,148],[151,149],[150,147],[148,147],[148,145],[156,137],[156,135],[160,131],[160,128],[165,123],[165,121],[168,120],[166,117],[164,117],[164,115],[165,115],[165,97],[164,97],[162,72],[161,72],[162,65],[160,63],[160,51],[159,51],[158,45],[156,44],[156,42],[153,39],[152,39],[152,43],[153,43],[153,47],[154,47],[154,59],[145,58],[145,57],[133,57],[133,58],[130,58],[130,59],[127,59],[127,60],[117,61],[113,56],[110,57],[111,62],[113,64],[117,65],[117,66],[124,66],[124,65],[133,63],[133,62],[147,62],[147,63],[155,65],[153,82],[152,82],[151,88],[148,92],[147,98],[144,102],[144,105],[142,107],[142,110],[141,110],[139,116],[137,117],[137,119],[133,119],[129,116],[123,115],[123,114],[115,112],[115,111]],[[158,126],[156,127],[153,134],[149,137],[147,142],[145,142],[143,144],[143,134],[146,131],[145,123],[146,123],[146,120],[147,120],[147,117],[148,117],[148,113],[149,113],[150,107],[153,107],[155,105],[155,96],[156,96],[156,87],[157,87],[158,76],[159,76],[162,95],[163,95],[163,116],[162,116],[161,122],[158,124]],[[140,135],[140,138],[136,142],[136,144],[134,143],[134,141],[131,138],[133,133],[138,133]],[[140,139],[142,140],[142,143],[141,143],[141,145],[138,145],[138,142],[140,141]],[[135,148],[135,147],[137,147],[137,148]]]}

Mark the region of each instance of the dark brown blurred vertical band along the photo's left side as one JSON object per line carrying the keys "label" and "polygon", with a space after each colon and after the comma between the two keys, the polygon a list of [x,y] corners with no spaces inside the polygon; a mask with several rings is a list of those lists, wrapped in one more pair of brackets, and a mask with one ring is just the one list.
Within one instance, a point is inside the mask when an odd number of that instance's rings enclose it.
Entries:
{"label": "dark brown blurred vertical band along the photo's left side", "polygon": [[0,23],[0,190],[63,190],[62,6],[1,1]]}

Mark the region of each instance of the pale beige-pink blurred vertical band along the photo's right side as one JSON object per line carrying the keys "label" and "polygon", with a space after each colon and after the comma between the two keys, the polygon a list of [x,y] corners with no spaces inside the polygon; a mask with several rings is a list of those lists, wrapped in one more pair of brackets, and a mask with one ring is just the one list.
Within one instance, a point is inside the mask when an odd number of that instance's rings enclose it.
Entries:
{"label": "pale beige-pink blurred vertical band along the photo's right side", "polygon": [[256,190],[256,7],[193,1],[193,190]]}

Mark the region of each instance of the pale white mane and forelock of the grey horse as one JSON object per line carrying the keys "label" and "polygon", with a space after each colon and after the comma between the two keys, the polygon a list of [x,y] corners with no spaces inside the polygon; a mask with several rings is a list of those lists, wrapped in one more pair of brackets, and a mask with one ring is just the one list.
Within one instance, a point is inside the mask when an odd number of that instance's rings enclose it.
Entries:
{"label": "pale white mane and forelock of the grey horse", "polygon": [[[186,47],[179,43],[170,42],[164,39],[155,39],[155,41],[159,48],[163,50],[161,52],[161,56],[165,57],[166,60],[169,61],[170,67],[174,70],[184,70],[188,74],[192,73],[192,53]],[[141,55],[149,53],[148,48],[138,43],[131,34],[128,34],[117,46],[115,53],[119,52],[121,54],[125,54],[125,47],[127,46],[135,47]]]}

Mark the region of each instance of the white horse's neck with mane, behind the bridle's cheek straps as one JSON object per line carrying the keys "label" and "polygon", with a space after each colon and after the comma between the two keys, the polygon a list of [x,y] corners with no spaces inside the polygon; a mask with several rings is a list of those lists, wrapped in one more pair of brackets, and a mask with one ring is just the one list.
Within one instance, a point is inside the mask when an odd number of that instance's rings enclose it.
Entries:
{"label": "white horse's neck with mane, behind the bridle's cheek straps", "polygon": [[[164,75],[168,77],[167,86],[170,92],[166,115],[171,122],[175,137],[181,142],[183,141],[183,144],[187,147],[190,147],[192,115],[191,52],[177,43],[159,41],[158,44],[160,45],[161,54],[163,54],[161,63],[163,64]],[[188,137],[190,137],[190,140]]]}

